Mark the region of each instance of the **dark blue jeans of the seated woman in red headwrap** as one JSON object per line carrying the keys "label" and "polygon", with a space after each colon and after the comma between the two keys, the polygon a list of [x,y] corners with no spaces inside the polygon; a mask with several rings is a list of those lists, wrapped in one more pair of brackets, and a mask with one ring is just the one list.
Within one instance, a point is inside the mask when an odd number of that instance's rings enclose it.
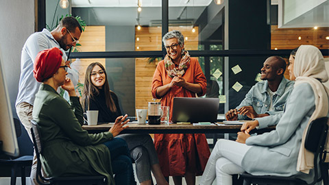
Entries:
{"label": "dark blue jeans of the seated woman in red headwrap", "polygon": [[136,184],[134,180],[134,170],[132,169],[132,159],[130,158],[130,151],[128,150],[125,140],[113,138],[103,144],[108,147],[111,153],[115,184]]}

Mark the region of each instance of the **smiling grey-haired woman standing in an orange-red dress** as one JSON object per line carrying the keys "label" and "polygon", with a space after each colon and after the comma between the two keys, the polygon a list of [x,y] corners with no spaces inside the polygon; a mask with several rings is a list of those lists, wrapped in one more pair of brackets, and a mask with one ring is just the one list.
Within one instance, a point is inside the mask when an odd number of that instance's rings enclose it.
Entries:
{"label": "smiling grey-haired woman standing in an orange-red dress", "polygon": [[[152,82],[152,95],[161,99],[161,106],[173,110],[173,97],[195,97],[206,93],[206,77],[196,58],[184,51],[180,31],[165,34],[162,42],[167,49],[158,63]],[[210,150],[204,134],[155,134],[154,145],[165,177],[173,176],[175,185],[195,184],[195,175],[202,175]]]}

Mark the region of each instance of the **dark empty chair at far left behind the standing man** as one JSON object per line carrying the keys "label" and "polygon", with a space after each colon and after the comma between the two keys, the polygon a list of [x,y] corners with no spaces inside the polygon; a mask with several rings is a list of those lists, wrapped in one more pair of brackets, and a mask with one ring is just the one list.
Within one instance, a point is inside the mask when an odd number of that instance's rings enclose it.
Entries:
{"label": "dark empty chair at far left behind the standing man", "polygon": [[[14,119],[14,125],[16,130],[16,137],[19,138],[21,136],[21,122],[19,119]],[[10,184],[16,184],[16,177],[17,177],[17,170],[21,169],[21,182],[22,185],[26,184],[26,176],[25,176],[25,167],[32,166],[33,156],[21,156],[15,159],[0,159],[0,166],[1,167],[10,167],[11,168],[11,177],[10,177]]]}

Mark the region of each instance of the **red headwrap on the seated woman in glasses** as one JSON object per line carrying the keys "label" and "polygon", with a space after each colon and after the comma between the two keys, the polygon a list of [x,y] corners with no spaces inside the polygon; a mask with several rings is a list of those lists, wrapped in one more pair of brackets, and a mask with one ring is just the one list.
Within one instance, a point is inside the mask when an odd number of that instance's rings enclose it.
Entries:
{"label": "red headwrap on the seated woman in glasses", "polygon": [[40,51],[34,62],[34,77],[36,81],[42,82],[55,74],[60,69],[63,53],[58,47]]}

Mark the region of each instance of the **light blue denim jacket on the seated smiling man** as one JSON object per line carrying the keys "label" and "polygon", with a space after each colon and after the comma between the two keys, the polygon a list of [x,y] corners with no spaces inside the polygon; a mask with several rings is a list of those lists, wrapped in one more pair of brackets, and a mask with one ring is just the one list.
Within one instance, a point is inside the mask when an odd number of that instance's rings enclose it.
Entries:
{"label": "light blue denim jacket on the seated smiling man", "polygon": [[[269,93],[267,92],[267,88],[269,87],[267,80],[258,82],[252,86],[247,95],[245,95],[245,99],[243,99],[236,109],[243,106],[252,106],[257,114],[267,113],[271,115],[282,112],[291,90],[293,90],[293,84],[295,84],[295,82],[282,77],[278,90],[276,90],[276,93],[273,95],[274,110],[272,111],[269,111],[271,99],[269,97]],[[248,119],[248,117],[239,114],[238,119]]]}

